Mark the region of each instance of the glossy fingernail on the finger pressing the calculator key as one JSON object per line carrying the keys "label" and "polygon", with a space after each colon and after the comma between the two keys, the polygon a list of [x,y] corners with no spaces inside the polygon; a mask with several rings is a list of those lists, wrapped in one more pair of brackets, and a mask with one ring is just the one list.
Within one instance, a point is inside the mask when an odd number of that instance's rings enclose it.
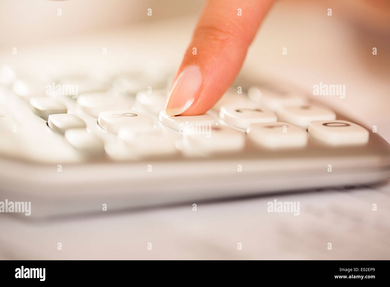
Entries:
{"label": "glossy fingernail on the finger pressing the calculator key", "polygon": [[167,115],[176,116],[187,111],[198,96],[200,86],[202,86],[202,73],[198,66],[187,66],[168,93],[165,105]]}

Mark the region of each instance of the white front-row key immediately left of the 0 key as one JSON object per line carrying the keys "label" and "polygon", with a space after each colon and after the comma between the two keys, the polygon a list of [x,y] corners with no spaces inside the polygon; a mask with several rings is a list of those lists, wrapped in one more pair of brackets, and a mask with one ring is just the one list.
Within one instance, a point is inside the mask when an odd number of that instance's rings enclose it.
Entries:
{"label": "white front-row key immediately left of the 0 key", "polygon": [[307,144],[307,132],[289,123],[252,123],[246,129],[248,137],[269,148],[300,148]]}

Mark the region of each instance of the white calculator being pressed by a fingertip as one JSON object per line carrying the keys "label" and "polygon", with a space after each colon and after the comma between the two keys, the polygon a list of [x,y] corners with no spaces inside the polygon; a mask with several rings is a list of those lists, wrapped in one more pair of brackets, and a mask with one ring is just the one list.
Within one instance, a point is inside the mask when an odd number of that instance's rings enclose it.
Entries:
{"label": "white calculator being pressed by a fingertip", "polygon": [[167,116],[165,81],[62,75],[51,86],[19,74],[0,68],[0,199],[31,201],[33,217],[375,184],[389,174],[389,144],[374,128],[286,85],[237,79],[206,114]]}

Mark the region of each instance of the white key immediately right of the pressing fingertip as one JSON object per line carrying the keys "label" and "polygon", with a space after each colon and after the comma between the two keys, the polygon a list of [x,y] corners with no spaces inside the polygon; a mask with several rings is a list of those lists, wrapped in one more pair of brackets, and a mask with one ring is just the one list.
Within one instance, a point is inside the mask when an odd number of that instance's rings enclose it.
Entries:
{"label": "white key immediately right of the pressing fingertip", "polygon": [[238,128],[247,128],[251,123],[275,122],[276,115],[255,104],[234,104],[221,107],[219,116],[225,123]]}

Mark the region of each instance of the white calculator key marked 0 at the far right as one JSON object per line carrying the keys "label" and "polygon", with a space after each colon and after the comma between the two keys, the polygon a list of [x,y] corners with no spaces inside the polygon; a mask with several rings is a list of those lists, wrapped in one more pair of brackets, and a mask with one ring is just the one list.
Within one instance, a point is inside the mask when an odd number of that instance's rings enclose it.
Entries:
{"label": "white calculator key marked 0 at the far right", "polygon": [[368,130],[349,121],[311,121],[307,131],[312,137],[331,145],[365,144],[369,140]]}

